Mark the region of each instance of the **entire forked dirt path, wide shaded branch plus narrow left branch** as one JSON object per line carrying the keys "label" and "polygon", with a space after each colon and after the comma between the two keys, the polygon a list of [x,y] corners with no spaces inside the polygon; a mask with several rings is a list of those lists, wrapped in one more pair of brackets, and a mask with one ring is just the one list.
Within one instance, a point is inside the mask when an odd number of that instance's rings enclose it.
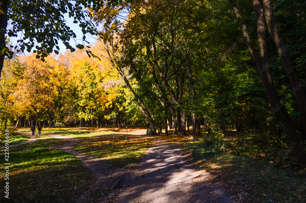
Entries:
{"label": "entire forked dirt path, wide shaded branch plus narrow left branch", "polygon": [[[143,134],[143,130],[135,131],[135,134]],[[78,139],[55,134],[48,136],[67,140],[63,145],[46,148],[62,149],[76,156],[95,175],[97,185],[102,191],[109,191],[110,179],[117,179],[125,174],[113,194],[101,194],[100,203],[232,202],[230,196],[211,181],[211,174],[203,170],[192,170],[189,162],[182,156],[184,150],[180,144],[168,144],[159,137],[150,137],[156,141],[155,144],[148,148],[137,167],[127,173],[125,169],[104,164],[74,151],[73,145],[80,142]],[[35,139],[36,136],[31,137],[27,142]]]}

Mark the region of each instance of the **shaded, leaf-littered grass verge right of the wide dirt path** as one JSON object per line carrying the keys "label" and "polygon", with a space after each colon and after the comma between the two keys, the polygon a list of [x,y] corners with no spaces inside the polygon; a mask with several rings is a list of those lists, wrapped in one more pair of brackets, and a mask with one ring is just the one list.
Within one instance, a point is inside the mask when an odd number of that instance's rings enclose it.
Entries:
{"label": "shaded, leaf-littered grass verge right of the wide dirt path", "polygon": [[[185,145],[201,168],[210,170],[220,185],[242,202],[304,202],[305,176],[273,164],[213,150],[202,141]],[[306,170],[304,169],[304,172]]]}

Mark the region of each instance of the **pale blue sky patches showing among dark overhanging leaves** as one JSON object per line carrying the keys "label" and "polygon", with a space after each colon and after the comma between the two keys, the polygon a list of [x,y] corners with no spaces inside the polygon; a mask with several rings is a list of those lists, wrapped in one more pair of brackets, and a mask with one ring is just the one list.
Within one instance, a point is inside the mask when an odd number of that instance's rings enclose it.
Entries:
{"label": "pale blue sky patches showing among dark overhanging leaves", "polygon": [[[73,17],[69,18],[68,13],[65,13],[65,14],[64,14],[64,18],[65,18],[65,20],[67,21],[67,25],[68,25],[68,26],[70,27],[70,29],[72,29],[72,30],[74,31],[74,33],[76,34],[75,40],[76,40],[77,43],[76,43],[73,39],[71,39],[71,40],[69,41],[69,44],[70,44],[72,47],[75,48],[75,45],[76,45],[76,44],[82,44],[83,33],[82,33],[82,31],[81,31],[81,28],[79,27],[79,24],[73,23]],[[90,35],[90,34],[86,34],[86,40],[87,40],[88,42],[90,42],[90,44],[93,44],[93,43],[95,42],[95,40],[96,40],[95,37],[96,37],[96,36],[92,36],[92,35]],[[17,40],[20,39],[20,38],[21,38],[21,33],[19,33],[17,37],[10,37],[10,41],[11,41],[11,43],[15,46],[15,45],[17,45]],[[58,41],[58,46],[59,46],[59,48],[60,48],[60,52],[65,52],[66,46],[65,46],[60,40]],[[35,49],[35,48],[33,48],[32,50],[34,50],[34,49]],[[25,53],[25,54],[28,54],[29,52],[27,52],[26,50],[24,50],[24,53]]]}

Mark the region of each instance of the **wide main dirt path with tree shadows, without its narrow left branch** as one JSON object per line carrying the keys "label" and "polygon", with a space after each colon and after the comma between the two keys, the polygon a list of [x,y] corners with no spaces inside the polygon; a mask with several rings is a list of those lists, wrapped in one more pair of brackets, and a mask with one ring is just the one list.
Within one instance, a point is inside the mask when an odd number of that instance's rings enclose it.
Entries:
{"label": "wide main dirt path with tree shadows, without its narrow left branch", "polygon": [[137,168],[126,174],[116,193],[120,203],[232,202],[211,182],[211,174],[194,171],[180,145],[158,140]]}

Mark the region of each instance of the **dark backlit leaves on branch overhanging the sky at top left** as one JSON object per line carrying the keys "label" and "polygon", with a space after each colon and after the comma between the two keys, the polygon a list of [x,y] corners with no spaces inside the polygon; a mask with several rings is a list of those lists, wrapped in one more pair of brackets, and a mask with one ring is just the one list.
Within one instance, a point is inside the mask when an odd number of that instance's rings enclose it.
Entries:
{"label": "dark backlit leaves on branch overhanging the sky at top left", "polygon": [[[37,58],[44,61],[53,51],[58,54],[59,47],[58,41],[61,40],[67,49],[74,52],[75,49],[69,44],[69,40],[76,38],[73,30],[66,25],[64,14],[69,17],[74,17],[73,23],[79,23],[84,34],[83,40],[86,41],[86,33],[97,35],[94,24],[90,21],[91,13],[86,8],[98,10],[103,4],[103,1],[19,1],[10,2],[7,8],[8,19],[11,19],[11,27],[8,29],[8,36],[17,36],[18,32],[22,32],[23,36],[17,40],[18,45],[14,48],[17,52],[24,52],[26,49],[31,52],[37,53]],[[5,9],[5,8],[1,8]],[[6,13],[6,12],[5,12]],[[6,28],[2,28],[6,31]],[[76,46],[83,49],[84,45],[78,44]],[[57,50],[54,50],[54,49]],[[1,48],[2,50],[3,48]],[[95,55],[87,50],[89,56]],[[5,51],[6,56],[12,58],[13,52]]]}

